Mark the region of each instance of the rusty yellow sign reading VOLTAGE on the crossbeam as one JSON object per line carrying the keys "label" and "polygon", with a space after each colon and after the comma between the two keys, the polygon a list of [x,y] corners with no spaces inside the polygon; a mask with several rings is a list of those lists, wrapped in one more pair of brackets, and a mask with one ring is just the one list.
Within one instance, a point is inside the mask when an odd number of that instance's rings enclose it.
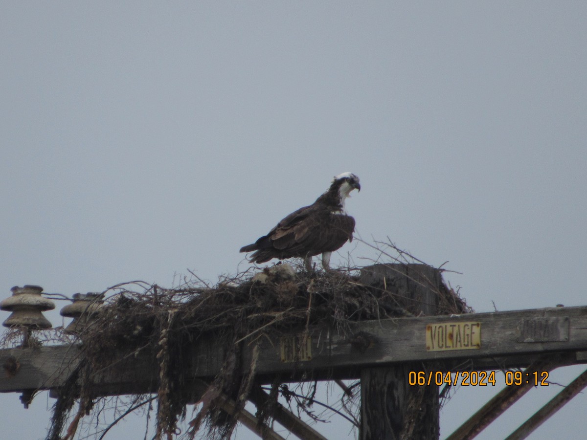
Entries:
{"label": "rusty yellow sign reading VOLTAGE on the crossbeam", "polygon": [[481,323],[458,322],[428,324],[426,350],[474,350],[481,348]]}

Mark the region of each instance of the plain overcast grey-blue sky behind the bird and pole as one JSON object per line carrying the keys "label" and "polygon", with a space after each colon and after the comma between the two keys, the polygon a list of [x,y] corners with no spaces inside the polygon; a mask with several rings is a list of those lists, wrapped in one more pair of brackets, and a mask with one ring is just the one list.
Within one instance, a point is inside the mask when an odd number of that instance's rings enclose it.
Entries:
{"label": "plain overcast grey-blue sky behind the bird and pole", "polygon": [[[3,1],[2,297],[171,286],[188,269],[215,282],[352,171],[357,235],[448,260],[477,312],[585,305],[586,19],[581,1]],[[349,252],[375,257],[353,242],[333,265]],[[497,388],[459,388],[441,435]],[[560,390],[531,391],[478,438]],[[46,393],[28,411],[0,402],[6,438],[45,435]],[[531,438],[583,436],[585,405]]]}

